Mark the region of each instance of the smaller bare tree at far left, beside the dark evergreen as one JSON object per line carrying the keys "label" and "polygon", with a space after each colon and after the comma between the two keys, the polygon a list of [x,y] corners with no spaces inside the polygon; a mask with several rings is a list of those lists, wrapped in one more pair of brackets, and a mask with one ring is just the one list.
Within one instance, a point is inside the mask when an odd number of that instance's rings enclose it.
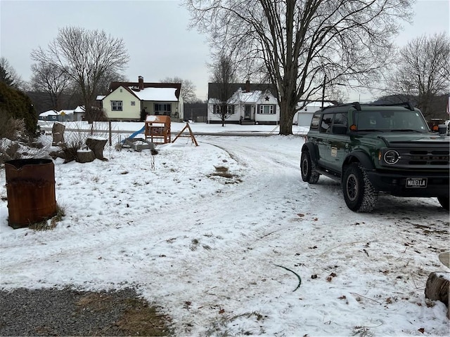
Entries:
{"label": "smaller bare tree at far left, beside the dark evergreen", "polygon": [[31,66],[32,78],[30,85],[34,91],[46,93],[53,110],[62,109],[61,98],[70,87],[70,77],[59,67],[53,67],[45,62]]}

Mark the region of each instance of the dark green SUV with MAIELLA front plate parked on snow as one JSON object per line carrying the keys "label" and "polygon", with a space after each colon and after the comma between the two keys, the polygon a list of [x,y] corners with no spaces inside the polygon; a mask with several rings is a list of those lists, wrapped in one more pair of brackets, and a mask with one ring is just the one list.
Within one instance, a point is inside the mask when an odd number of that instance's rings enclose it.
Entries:
{"label": "dark green SUV with MAIELLA front plate parked on snow", "polygon": [[335,105],[314,113],[300,171],[310,184],[339,180],[352,211],[372,211],[379,192],[437,197],[449,210],[449,145],[409,103]]}

